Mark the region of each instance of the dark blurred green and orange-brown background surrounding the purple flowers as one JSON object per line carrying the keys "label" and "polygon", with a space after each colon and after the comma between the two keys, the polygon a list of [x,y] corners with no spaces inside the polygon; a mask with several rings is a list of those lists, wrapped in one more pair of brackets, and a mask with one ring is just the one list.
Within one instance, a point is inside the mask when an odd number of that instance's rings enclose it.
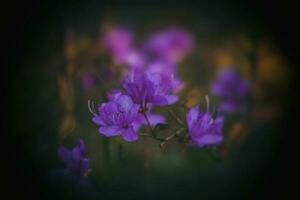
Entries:
{"label": "dark blurred green and orange-brown background surrounding the purple flowers", "polygon": [[[40,2],[15,4],[5,21],[9,126],[2,170],[8,195],[38,199],[260,199],[294,194],[299,177],[291,126],[296,110],[293,10],[274,2]],[[285,15],[291,11],[292,14]],[[285,16],[282,17],[282,16]],[[290,17],[291,16],[291,17]],[[233,67],[251,83],[248,109],[225,115],[224,143],[212,150],[175,141],[163,150],[141,138],[105,138],[87,101],[100,104],[114,87],[101,34],[124,26],[139,46],[151,33],[177,26],[194,38],[179,64],[185,106],[200,104],[218,70]],[[7,62],[6,62],[7,61]],[[3,109],[3,108],[2,108]],[[6,110],[5,110],[6,111]],[[165,110],[158,110],[165,114]],[[184,110],[177,109],[184,120]],[[6,132],[6,131],[5,131]],[[60,145],[86,143],[87,183],[55,175]],[[289,185],[283,190],[283,185]],[[278,189],[281,190],[278,190]]]}

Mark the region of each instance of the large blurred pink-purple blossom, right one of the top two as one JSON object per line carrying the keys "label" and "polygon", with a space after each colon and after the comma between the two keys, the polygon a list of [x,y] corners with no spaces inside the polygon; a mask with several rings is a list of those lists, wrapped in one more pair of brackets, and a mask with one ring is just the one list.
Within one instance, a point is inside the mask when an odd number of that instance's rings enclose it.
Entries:
{"label": "large blurred pink-purple blossom, right one of the top two", "polygon": [[181,61],[193,47],[192,37],[183,29],[169,28],[151,35],[143,50],[150,59]]}

